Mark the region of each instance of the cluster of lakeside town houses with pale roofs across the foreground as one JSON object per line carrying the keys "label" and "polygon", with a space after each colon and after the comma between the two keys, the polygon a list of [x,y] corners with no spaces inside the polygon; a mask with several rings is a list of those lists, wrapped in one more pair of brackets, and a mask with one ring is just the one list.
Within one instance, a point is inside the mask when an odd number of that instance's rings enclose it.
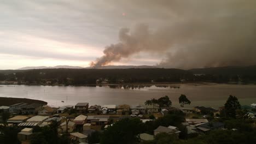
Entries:
{"label": "cluster of lakeside town houses with pale roofs across the foreground", "polygon": [[[162,97],[166,98],[166,97]],[[161,98],[160,98],[161,99]],[[154,100],[153,100],[154,101]],[[152,101],[151,101],[152,102]],[[0,106],[2,127],[17,127],[18,140],[22,143],[30,143],[36,129],[49,127],[57,123],[57,133],[61,136],[68,135],[71,143],[88,143],[88,137],[96,131],[104,131],[113,127],[121,119],[137,118],[146,124],[150,121],[157,121],[170,113],[183,113],[183,127],[187,135],[205,135],[212,130],[226,130],[225,123],[214,121],[225,113],[225,107],[213,109],[212,107],[195,106],[193,108],[173,107],[171,105],[162,105],[150,103],[138,105],[89,105],[89,103],[80,102],[76,105],[64,105],[61,107],[50,107],[48,105],[33,103],[18,103],[10,106]],[[249,119],[255,119],[256,104],[241,106],[241,109],[247,110],[245,115]],[[3,113],[8,113],[4,117]],[[232,129],[237,130],[237,129]],[[179,137],[182,133],[177,125],[157,125],[153,134],[138,134],[139,141],[152,141],[160,133],[167,133]],[[1,133],[0,133],[1,135]]]}

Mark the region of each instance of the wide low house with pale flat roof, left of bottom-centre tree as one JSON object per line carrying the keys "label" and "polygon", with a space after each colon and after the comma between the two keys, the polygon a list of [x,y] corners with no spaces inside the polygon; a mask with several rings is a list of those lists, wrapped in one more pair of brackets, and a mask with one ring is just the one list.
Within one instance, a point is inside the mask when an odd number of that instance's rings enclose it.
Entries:
{"label": "wide low house with pale flat roof, left of bottom-centre tree", "polygon": [[109,122],[109,116],[88,116],[86,123],[91,123],[91,125],[106,125]]}

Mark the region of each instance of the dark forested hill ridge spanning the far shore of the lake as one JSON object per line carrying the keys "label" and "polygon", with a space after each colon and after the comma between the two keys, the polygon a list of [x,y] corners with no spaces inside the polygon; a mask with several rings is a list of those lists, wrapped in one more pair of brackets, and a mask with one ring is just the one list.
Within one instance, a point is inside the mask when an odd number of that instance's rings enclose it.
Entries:
{"label": "dark forested hill ridge spanning the far shore of the lake", "polygon": [[[199,74],[199,75],[198,75]],[[32,69],[0,70],[0,81],[37,85],[87,85],[96,83],[217,82],[255,83],[256,65],[203,69]]]}

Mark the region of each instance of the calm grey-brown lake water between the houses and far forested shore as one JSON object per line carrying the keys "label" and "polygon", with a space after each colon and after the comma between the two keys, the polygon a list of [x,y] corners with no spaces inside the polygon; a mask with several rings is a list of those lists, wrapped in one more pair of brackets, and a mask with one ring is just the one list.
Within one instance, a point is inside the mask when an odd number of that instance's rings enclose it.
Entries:
{"label": "calm grey-brown lake water between the houses and far forested shore", "polygon": [[[181,84],[167,86],[27,86],[0,85],[0,97],[38,99],[50,106],[75,105],[88,102],[89,105],[143,104],[144,101],[168,95],[173,106],[179,106],[178,97],[187,95],[192,106],[223,106],[229,95],[235,95],[242,105],[256,103],[255,85],[225,84]],[[64,101],[64,103],[62,102]]]}

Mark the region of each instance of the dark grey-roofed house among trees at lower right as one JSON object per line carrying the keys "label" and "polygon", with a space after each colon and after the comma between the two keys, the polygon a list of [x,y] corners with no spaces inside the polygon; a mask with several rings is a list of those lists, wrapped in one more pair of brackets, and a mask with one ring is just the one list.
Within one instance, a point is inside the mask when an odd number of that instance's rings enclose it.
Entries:
{"label": "dark grey-roofed house among trees at lower right", "polygon": [[208,122],[208,123],[196,124],[195,126],[196,126],[196,129],[200,130],[203,133],[206,133],[207,131],[210,131],[210,130],[223,129],[224,123]]}

